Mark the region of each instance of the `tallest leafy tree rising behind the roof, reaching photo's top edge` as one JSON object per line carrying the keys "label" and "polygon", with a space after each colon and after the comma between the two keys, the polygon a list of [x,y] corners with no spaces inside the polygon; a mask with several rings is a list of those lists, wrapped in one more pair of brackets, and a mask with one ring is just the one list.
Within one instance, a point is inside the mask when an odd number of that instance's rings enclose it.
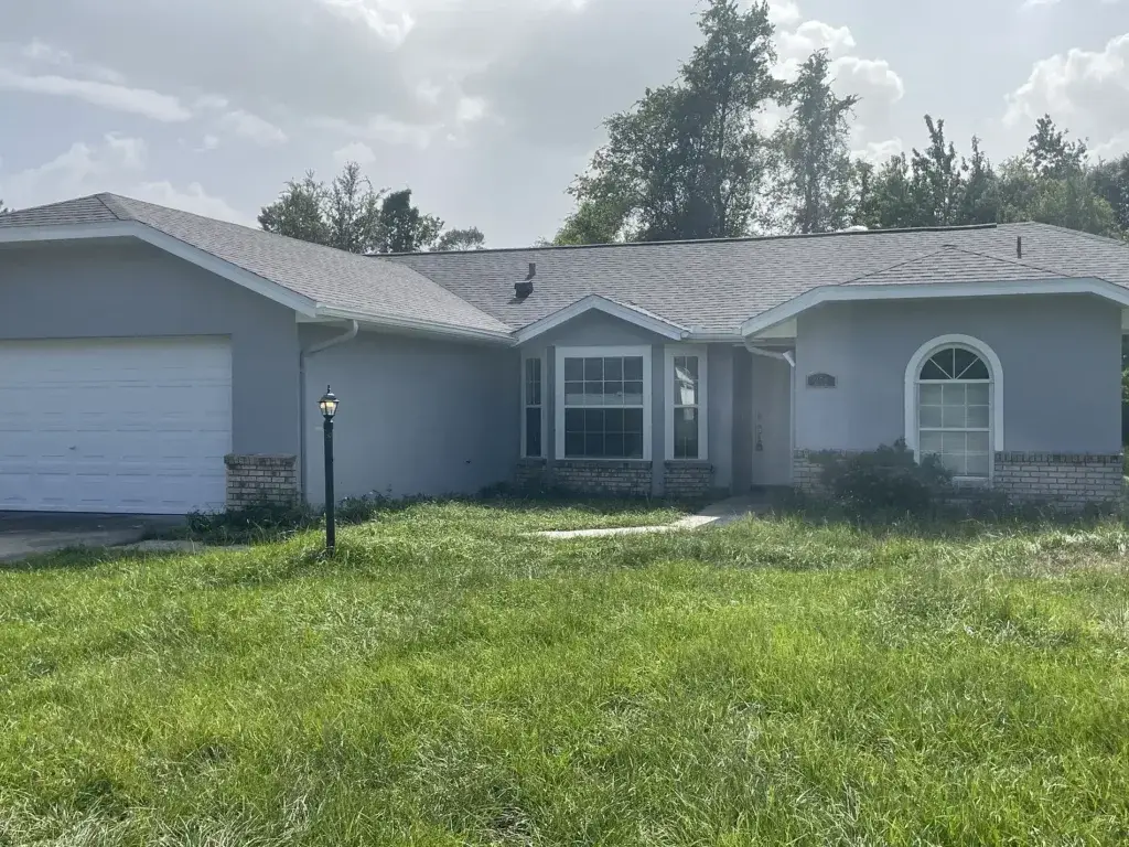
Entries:
{"label": "tallest leafy tree rising behind the roof, reaching photo's top edge", "polygon": [[[778,88],[768,5],[759,0],[743,10],[737,0],[709,0],[699,28],[703,42],[677,81],[647,89],[605,122],[607,143],[570,189],[580,217],[559,238],[669,241],[747,232],[767,148],[755,119]],[[612,234],[607,227],[620,210]]]}

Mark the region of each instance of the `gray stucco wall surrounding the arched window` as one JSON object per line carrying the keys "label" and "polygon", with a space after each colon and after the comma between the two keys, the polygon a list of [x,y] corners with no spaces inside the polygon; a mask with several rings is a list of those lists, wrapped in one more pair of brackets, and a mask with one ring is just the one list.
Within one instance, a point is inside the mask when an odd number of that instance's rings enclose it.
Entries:
{"label": "gray stucco wall surrounding the arched window", "polygon": [[[799,316],[796,447],[869,449],[904,433],[905,366],[945,334],[1004,368],[1007,451],[1121,449],[1121,311],[1084,295],[828,304]],[[807,388],[826,372],[838,387]]]}

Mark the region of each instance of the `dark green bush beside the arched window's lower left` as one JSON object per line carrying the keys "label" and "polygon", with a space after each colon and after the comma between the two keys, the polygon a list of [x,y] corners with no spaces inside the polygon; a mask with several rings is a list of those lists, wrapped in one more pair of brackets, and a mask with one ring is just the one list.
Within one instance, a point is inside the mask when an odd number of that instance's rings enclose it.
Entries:
{"label": "dark green bush beside the arched window's lower left", "polygon": [[896,510],[921,515],[951,491],[952,474],[936,456],[920,463],[899,439],[866,453],[824,453],[822,482],[837,500],[860,510]]}

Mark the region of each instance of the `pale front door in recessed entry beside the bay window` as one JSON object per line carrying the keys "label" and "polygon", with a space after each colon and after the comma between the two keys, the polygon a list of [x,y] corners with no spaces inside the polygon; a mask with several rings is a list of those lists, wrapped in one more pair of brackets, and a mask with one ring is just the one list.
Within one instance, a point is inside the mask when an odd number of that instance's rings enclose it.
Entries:
{"label": "pale front door in recessed entry beside the bay window", "polygon": [[754,488],[791,484],[793,368],[787,361],[753,356]]}

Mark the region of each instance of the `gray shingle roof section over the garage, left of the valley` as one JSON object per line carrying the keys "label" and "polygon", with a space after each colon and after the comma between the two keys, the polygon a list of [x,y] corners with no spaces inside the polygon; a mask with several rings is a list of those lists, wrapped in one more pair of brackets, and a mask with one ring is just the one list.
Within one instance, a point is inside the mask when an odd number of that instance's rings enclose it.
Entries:
{"label": "gray shingle roof section over the garage, left of the valley", "polygon": [[318,305],[507,333],[509,328],[396,262],[373,261],[332,247],[287,238],[116,194],[97,194],[0,216],[0,227],[67,226],[132,220],[270,280]]}

